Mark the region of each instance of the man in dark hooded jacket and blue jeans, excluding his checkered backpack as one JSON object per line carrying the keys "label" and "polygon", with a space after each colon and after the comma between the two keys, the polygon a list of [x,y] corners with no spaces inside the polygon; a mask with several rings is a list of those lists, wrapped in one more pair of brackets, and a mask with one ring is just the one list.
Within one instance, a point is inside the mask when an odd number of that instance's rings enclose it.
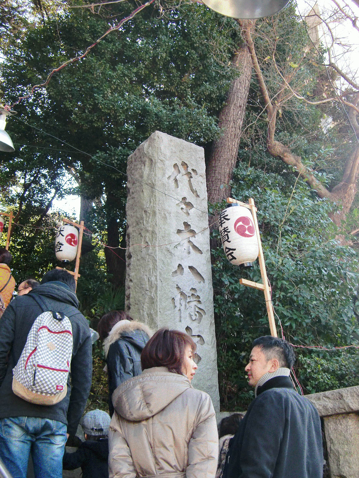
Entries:
{"label": "man in dark hooded jacket and blue jeans, excluding his checkered backpack", "polygon": [[[25,478],[31,452],[36,478],[61,478],[68,435],[75,435],[90,392],[90,328],[79,312],[74,277],[67,271],[46,272],[41,284],[12,300],[0,320],[0,457],[16,478]],[[12,391],[12,369],[29,331],[44,311],[66,315],[73,349],[67,395],[55,405],[37,405]]]}

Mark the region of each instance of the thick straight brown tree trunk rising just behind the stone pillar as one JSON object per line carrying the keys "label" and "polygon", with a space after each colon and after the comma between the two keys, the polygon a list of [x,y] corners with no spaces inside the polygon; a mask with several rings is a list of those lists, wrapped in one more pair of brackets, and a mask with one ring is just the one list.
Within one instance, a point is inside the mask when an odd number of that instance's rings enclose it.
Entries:
{"label": "thick straight brown tree trunk rising just behind the stone pillar", "polygon": [[212,204],[222,201],[231,192],[229,181],[233,168],[236,166],[252,72],[247,44],[237,50],[232,65],[238,69],[240,76],[232,82],[227,100],[219,115],[221,137],[213,141],[207,166],[208,201]]}

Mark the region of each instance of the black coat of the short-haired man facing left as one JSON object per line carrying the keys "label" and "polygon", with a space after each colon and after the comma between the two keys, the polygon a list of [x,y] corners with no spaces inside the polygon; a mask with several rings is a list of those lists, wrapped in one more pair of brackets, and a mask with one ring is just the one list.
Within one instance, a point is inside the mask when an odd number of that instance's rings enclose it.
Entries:
{"label": "black coat of the short-haired man facing left", "polygon": [[224,478],[322,478],[319,414],[289,377],[258,387],[230,442]]}

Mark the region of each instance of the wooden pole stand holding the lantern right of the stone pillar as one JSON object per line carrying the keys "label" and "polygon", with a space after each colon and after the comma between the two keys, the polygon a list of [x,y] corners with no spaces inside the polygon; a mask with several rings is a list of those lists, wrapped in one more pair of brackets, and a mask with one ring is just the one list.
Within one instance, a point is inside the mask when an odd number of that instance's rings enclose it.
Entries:
{"label": "wooden pole stand holding the lantern right of the stone pillar", "polygon": [[232,203],[232,204],[235,203],[235,204],[239,204],[239,206],[247,207],[247,209],[249,209],[252,213],[254,227],[256,228],[256,234],[258,239],[258,248],[259,248],[258,261],[259,261],[260,274],[262,276],[263,283],[259,284],[258,282],[248,281],[247,279],[239,279],[239,283],[242,285],[247,285],[248,287],[253,287],[254,289],[259,289],[260,291],[264,292],[264,297],[266,299],[268,319],[269,319],[270,335],[272,337],[278,337],[275,320],[274,320],[273,305],[270,298],[271,289],[269,287],[268,278],[267,278],[267,271],[266,271],[266,264],[264,262],[262,243],[260,242],[258,220],[257,220],[257,214],[256,214],[257,207],[255,206],[254,200],[252,198],[249,198],[248,200],[249,204],[247,204],[247,203],[242,203],[241,201],[237,201],[236,199],[233,199],[232,197],[227,197],[227,203]]}

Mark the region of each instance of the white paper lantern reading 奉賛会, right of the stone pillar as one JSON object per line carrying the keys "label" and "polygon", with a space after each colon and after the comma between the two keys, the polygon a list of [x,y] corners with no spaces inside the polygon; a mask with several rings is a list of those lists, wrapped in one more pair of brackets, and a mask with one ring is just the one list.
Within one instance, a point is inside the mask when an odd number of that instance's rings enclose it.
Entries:
{"label": "white paper lantern reading \u5949\u8cdb\u4f1a, right of the stone pillar", "polygon": [[224,253],[232,264],[254,262],[259,253],[253,217],[244,206],[227,207],[218,219]]}

